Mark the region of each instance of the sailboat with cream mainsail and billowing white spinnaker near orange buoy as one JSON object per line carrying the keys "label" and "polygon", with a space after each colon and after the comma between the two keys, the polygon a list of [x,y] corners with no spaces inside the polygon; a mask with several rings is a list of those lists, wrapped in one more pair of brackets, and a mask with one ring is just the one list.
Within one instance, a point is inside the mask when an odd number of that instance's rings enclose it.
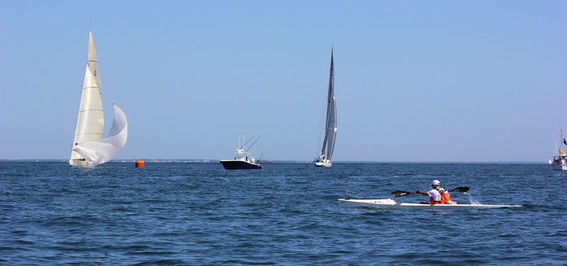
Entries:
{"label": "sailboat with cream mainsail and billowing white spinnaker near orange buoy", "polygon": [[114,117],[111,131],[108,132],[106,138],[102,138],[104,113],[101,74],[99,62],[96,58],[93,34],[89,30],[89,52],[69,165],[94,167],[112,160],[124,148],[128,138],[128,119],[116,104],[113,104],[113,109]]}

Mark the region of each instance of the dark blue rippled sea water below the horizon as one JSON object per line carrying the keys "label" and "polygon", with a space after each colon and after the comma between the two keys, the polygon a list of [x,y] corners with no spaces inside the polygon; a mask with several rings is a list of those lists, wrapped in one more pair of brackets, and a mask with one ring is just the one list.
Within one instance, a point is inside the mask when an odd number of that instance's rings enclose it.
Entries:
{"label": "dark blue rippled sea water below the horizon", "polygon": [[[549,165],[0,162],[1,265],[566,265],[567,173]],[[342,209],[471,187],[520,209]],[[453,199],[468,203],[465,194]],[[415,194],[398,201],[427,200]]]}

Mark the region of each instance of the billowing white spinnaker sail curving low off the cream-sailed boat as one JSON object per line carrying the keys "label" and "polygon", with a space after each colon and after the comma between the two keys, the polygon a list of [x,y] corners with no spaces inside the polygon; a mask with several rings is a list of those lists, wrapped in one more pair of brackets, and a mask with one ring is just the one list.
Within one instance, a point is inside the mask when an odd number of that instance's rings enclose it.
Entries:
{"label": "billowing white spinnaker sail curving low off the cream-sailed boat", "polygon": [[114,119],[111,131],[106,138],[77,143],[73,151],[82,155],[91,165],[99,165],[112,160],[126,145],[128,139],[128,119],[125,113],[114,106]]}

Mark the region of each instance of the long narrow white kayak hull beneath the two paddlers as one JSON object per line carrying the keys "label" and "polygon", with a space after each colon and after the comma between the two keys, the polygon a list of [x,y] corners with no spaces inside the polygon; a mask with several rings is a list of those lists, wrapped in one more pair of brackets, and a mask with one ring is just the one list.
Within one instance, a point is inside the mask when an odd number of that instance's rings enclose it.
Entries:
{"label": "long narrow white kayak hull beneath the two paddlers", "polygon": [[366,207],[372,209],[488,209],[488,208],[512,208],[522,205],[485,205],[485,204],[417,204],[398,203],[393,199],[339,199],[339,207],[356,208]]}

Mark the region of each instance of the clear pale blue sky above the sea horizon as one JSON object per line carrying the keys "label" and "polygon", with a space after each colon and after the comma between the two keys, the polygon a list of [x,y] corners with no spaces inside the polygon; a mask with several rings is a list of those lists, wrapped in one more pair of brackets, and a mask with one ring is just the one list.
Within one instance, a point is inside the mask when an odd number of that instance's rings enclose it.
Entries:
{"label": "clear pale blue sky above the sea horizon", "polygon": [[567,1],[0,0],[0,159],[68,159],[89,27],[115,159],[320,152],[334,161],[547,162],[567,137]]}

